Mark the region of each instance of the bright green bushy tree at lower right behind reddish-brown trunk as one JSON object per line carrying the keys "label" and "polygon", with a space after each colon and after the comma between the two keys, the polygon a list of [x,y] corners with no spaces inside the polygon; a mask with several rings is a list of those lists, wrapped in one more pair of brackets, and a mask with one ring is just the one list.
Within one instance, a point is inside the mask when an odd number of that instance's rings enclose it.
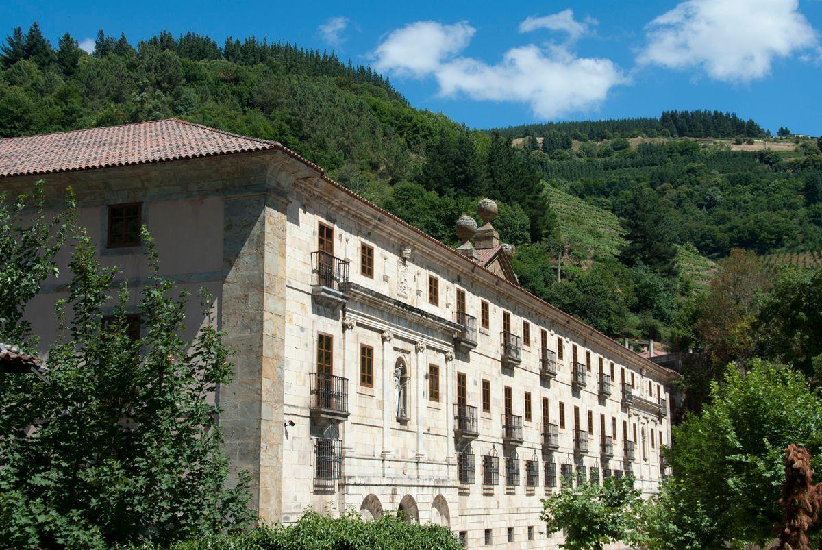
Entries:
{"label": "bright green bushy tree at lower right behind reddish-brown trunk", "polygon": [[782,515],[783,450],[822,449],[822,401],[790,368],[756,360],[713,382],[700,414],[672,428],[664,453],[676,476],[645,515],[649,548],[764,543]]}

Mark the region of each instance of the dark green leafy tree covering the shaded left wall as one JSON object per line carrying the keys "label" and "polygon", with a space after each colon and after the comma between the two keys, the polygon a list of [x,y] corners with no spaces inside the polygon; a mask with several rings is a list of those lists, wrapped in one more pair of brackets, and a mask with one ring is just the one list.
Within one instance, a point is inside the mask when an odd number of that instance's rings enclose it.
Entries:
{"label": "dark green leafy tree covering the shaded left wall", "polygon": [[[4,267],[12,276],[0,281],[4,322],[25,310],[30,286],[53,270],[54,252],[44,246],[58,247],[71,229],[61,220],[38,220],[27,238],[3,243],[15,259]],[[21,224],[21,217],[9,223]],[[203,291],[202,326],[183,340],[186,296],[170,295],[173,282],[157,275],[147,233],[144,241],[150,277],[137,303],[139,339],[128,334],[126,283],[113,321],[101,323],[111,311],[117,271],[99,266],[90,238],[79,233],[68,295],[56,307],[58,341],[48,349],[48,376],[0,384],[3,547],[165,543],[242,529],[252,519],[247,477],[229,486],[219,408],[206,400],[232,372],[211,299]],[[30,261],[34,256],[43,259]],[[17,273],[21,266],[32,272]],[[10,289],[17,281],[23,288]],[[13,327],[3,331],[17,334]]]}

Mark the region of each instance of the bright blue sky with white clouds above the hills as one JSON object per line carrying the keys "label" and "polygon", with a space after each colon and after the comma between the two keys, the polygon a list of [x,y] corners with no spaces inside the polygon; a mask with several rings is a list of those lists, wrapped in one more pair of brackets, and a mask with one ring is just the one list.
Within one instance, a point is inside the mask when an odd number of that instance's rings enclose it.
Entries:
{"label": "bright blue sky with white clouds above the hills", "polygon": [[822,133],[822,2],[21,2],[54,44],[97,30],[256,35],[370,62],[417,107],[471,127],[720,109]]}

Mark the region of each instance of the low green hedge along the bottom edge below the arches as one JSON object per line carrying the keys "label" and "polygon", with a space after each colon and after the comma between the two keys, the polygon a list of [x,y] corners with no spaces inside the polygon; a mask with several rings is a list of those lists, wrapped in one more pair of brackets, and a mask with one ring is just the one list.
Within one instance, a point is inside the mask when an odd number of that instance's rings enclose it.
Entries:
{"label": "low green hedge along the bottom edge below the arches", "polygon": [[[140,547],[149,550],[155,547]],[[463,548],[450,529],[440,525],[413,525],[391,512],[365,521],[349,511],[339,519],[307,511],[295,525],[263,526],[243,534],[214,534],[169,550],[459,550]]]}

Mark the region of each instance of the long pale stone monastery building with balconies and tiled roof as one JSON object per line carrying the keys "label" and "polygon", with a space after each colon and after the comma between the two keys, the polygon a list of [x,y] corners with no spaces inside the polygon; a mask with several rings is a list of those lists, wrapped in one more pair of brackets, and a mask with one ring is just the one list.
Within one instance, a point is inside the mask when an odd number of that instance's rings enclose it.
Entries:
{"label": "long pale stone monastery building with balconies and tiled roof", "polygon": [[[3,190],[39,178],[54,208],[73,188],[134,303],[141,249],[109,246],[122,212],[161,275],[214,296],[235,352],[215,395],[226,451],[265,520],[399,509],[469,548],[545,548],[561,538],[540,499],[563,476],[652,493],[666,473],[676,375],[521,289],[491,201],[448,247],[278,143],[176,120],[0,141]],[[30,309],[44,351],[66,282]],[[190,336],[204,320],[187,313]]]}

